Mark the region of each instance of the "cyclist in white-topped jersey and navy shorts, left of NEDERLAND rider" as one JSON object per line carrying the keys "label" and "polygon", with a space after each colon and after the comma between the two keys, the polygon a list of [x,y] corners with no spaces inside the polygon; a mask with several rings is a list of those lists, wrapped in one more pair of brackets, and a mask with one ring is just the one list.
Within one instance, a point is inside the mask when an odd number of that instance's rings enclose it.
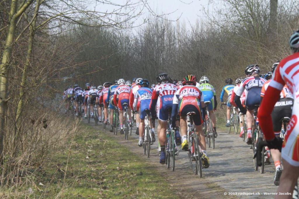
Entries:
{"label": "cyclist in white-topped jersey and navy shorts, left of NEDERLAND rider", "polygon": [[[266,79],[259,77],[260,67],[257,64],[248,65],[245,68],[246,78],[241,82],[239,89],[236,92],[234,99],[236,105],[243,114],[246,114],[247,123],[247,138],[246,143],[252,143],[252,123],[253,123],[253,112],[256,105],[260,105],[260,93],[262,86],[265,84]],[[245,108],[242,106],[240,97],[244,90],[247,90]]]}

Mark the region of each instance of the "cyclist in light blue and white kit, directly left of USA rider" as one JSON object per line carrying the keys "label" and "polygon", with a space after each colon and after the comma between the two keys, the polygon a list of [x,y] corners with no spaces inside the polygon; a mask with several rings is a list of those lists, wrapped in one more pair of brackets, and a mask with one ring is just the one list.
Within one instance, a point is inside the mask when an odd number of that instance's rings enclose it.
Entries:
{"label": "cyclist in light blue and white kit, directly left of USA rider", "polygon": [[[149,104],[152,99],[152,89],[149,88],[149,81],[147,79],[142,79],[140,81],[140,88],[137,90],[135,94],[134,100],[134,110],[136,111],[137,102],[140,98],[140,108],[139,108],[139,115],[140,115],[140,123],[139,123],[139,141],[138,146],[142,146],[142,138],[143,138],[143,130],[144,130],[144,119],[146,116],[145,110],[149,110]],[[151,122],[151,120],[149,120]],[[152,131],[152,142],[156,141],[155,133]]]}

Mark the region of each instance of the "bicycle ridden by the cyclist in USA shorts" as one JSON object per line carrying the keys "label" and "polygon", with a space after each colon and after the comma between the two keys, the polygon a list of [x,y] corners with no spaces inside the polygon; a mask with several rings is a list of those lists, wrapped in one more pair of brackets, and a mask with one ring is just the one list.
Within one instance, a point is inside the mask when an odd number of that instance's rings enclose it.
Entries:
{"label": "bicycle ridden by the cyclist in USA shorts", "polygon": [[[169,109],[168,127],[166,132],[166,165],[167,169],[172,168],[174,171],[175,160],[176,160],[176,143],[174,139],[174,131],[171,128],[171,109]],[[178,154],[177,154],[178,155]],[[171,163],[171,165],[170,165]]]}

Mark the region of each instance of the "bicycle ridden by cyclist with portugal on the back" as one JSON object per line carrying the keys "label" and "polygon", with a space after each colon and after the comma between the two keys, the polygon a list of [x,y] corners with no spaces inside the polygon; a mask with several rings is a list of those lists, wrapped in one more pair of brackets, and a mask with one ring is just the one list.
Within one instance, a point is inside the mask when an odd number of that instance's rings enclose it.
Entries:
{"label": "bicycle ridden by cyclist with portugal on the back", "polygon": [[[187,135],[188,135],[188,157],[191,169],[194,174],[198,174],[199,177],[202,177],[202,150],[199,146],[198,135],[195,132],[194,124],[193,124],[193,115],[195,112],[187,113]],[[195,167],[193,163],[195,161]]]}

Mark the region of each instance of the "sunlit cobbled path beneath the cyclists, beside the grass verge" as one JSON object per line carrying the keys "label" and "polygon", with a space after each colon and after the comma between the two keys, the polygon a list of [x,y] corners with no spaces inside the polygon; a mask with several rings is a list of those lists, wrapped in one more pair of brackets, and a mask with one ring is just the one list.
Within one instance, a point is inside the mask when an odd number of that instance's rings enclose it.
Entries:
{"label": "sunlit cobbled path beneath the cyclists, beside the grass verge", "polygon": [[[87,123],[86,119],[82,120]],[[94,120],[91,124],[94,126]],[[207,148],[210,158],[210,167],[203,169],[203,177],[194,175],[190,169],[187,153],[180,151],[176,157],[175,171],[167,169],[166,165],[159,163],[157,154],[157,141],[151,149],[150,157],[143,155],[142,147],[138,147],[138,135],[133,127],[132,136],[124,140],[124,135],[115,136],[109,130],[105,132],[103,126],[94,126],[100,133],[106,133],[114,137],[122,145],[140,156],[141,161],[147,161],[157,169],[157,173],[165,175],[165,180],[170,181],[170,186],[176,186],[180,192],[180,198],[273,198],[273,195],[265,195],[264,192],[275,193],[277,186],[273,183],[274,165],[265,166],[264,174],[254,171],[252,150],[238,135],[219,131],[215,142],[215,149]],[[228,195],[224,195],[226,192]],[[237,195],[229,195],[229,193]],[[247,194],[247,196],[246,196]],[[249,195],[250,194],[250,195]],[[253,195],[255,194],[255,195]],[[259,195],[256,195],[259,194]],[[237,197],[236,197],[237,196]]]}

